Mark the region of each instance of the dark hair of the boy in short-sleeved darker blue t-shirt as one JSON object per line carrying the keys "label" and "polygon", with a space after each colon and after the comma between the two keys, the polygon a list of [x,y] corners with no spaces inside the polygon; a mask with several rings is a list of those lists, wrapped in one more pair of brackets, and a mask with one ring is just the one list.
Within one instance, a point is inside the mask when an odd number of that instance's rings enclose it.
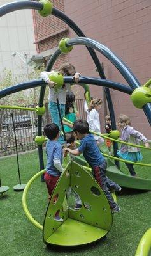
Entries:
{"label": "dark hair of the boy in short-sleeved darker blue t-shirt", "polygon": [[87,121],[78,119],[73,123],[73,132],[80,132],[81,134],[89,133],[89,124]]}

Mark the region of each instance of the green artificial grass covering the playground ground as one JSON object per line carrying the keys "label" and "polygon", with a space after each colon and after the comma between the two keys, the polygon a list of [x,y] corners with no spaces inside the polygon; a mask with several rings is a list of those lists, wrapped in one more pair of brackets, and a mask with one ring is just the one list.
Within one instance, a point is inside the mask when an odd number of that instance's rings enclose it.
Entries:
{"label": "green artificial grass covering the playground ground", "polygon": [[[142,150],[143,152],[143,150]],[[150,163],[150,151],[143,152],[143,163]],[[22,183],[27,183],[39,170],[38,153],[19,156]],[[42,232],[29,222],[22,209],[22,192],[13,191],[19,183],[16,157],[0,159],[0,175],[3,186],[10,190],[0,198],[0,253],[2,256],[32,255],[98,255],[133,256],[145,231],[151,227],[151,192],[123,189],[118,195],[121,212],[113,216],[113,226],[108,235],[97,243],[82,248],[48,248],[43,243]],[[128,171],[121,164],[124,173]],[[151,179],[151,168],[136,166],[140,177]],[[32,216],[43,225],[48,204],[47,188],[41,179],[31,186],[27,205]],[[74,232],[74,230],[73,230]]]}

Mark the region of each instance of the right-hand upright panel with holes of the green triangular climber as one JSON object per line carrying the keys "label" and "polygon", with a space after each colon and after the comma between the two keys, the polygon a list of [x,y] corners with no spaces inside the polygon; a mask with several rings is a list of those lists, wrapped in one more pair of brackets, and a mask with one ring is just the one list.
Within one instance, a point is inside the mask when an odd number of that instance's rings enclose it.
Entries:
{"label": "right-hand upright panel with holes of the green triangular climber", "polygon": [[[78,193],[83,204],[80,211],[69,209],[69,218],[110,230],[112,216],[106,196],[92,175],[75,162],[72,162],[71,188]],[[96,193],[92,188],[96,188]],[[97,191],[100,195],[96,195]],[[84,204],[89,204],[91,210],[87,210]]]}

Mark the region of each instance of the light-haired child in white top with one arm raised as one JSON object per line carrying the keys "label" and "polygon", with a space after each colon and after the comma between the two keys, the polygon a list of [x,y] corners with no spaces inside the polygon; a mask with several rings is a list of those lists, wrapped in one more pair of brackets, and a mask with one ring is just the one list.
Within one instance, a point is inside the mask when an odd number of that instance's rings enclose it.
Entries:
{"label": "light-haired child in white top with one arm raised", "polygon": [[[87,107],[86,104],[87,102],[85,101],[85,111],[87,112],[87,122],[89,124],[90,131],[101,133],[99,109],[101,109],[103,101],[101,99],[95,98],[94,100],[91,100],[89,107]],[[94,139],[98,145],[104,142],[104,139],[97,135],[94,135]]]}

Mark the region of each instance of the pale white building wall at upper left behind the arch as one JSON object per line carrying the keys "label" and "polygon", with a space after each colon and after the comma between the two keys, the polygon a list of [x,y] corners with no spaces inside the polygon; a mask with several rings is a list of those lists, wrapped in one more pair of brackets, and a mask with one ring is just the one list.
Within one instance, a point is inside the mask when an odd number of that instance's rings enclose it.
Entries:
{"label": "pale white building wall at upper left behind the arch", "polygon": [[[11,2],[0,0],[0,6]],[[1,17],[0,35],[0,75],[3,76],[5,67],[12,70],[13,75],[27,72],[24,62],[11,53],[27,53],[28,58],[36,54],[32,10],[18,10]]]}

